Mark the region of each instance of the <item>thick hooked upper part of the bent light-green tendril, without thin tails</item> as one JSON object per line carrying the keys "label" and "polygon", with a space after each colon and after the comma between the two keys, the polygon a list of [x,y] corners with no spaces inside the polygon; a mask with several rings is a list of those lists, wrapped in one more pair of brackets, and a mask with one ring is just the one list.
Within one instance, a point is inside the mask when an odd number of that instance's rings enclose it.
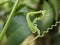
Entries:
{"label": "thick hooked upper part of the bent light-green tendril, without thin tails", "polygon": [[[38,17],[38,18],[35,18],[33,23],[32,21],[30,20],[30,16],[33,16],[32,14],[38,14],[38,13],[42,13],[42,16],[41,17]],[[31,29],[32,33],[35,33],[37,30],[39,30],[37,28],[37,25],[35,25],[34,23],[37,21],[37,20],[43,20],[43,18],[45,17],[45,10],[44,11],[37,11],[37,12],[29,12],[26,16],[26,19],[27,19],[27,23],[28,23],[28,26],[29,28]]]}

